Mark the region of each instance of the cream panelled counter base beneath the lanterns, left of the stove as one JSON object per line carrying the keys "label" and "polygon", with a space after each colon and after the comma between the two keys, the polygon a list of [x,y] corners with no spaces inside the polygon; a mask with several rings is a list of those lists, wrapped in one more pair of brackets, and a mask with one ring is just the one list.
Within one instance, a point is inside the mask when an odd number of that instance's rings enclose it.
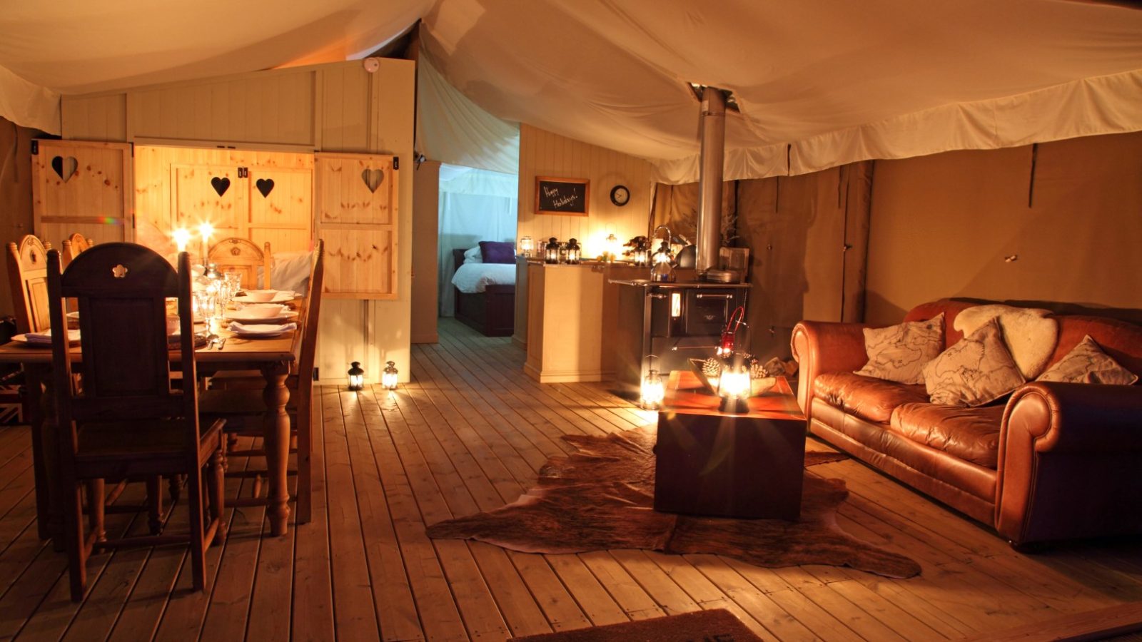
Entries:
{"label": "cream panelled counter base beneath the lanterns, left of the stove", "polygon": [[528,264],[528,375],[602,380],[603,279],[601,265]]}

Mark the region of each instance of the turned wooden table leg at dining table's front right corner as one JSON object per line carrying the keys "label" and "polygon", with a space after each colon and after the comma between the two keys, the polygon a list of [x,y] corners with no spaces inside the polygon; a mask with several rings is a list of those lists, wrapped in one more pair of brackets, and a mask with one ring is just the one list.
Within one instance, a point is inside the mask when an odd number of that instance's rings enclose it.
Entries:
{"label": "turned wooden table leg at dining table's front right corner", "polygon": [[262,399],[266,402],[266,414],[262,419],[263,442],[266,448],[266,476],[270,482],[270,493],[266,498],[270,514],[270,533],[286,535],[289,521],[289,485],[287,468],[289,467],[289,415],[286,403],[289,401],[289,388],[286,377],[289,364],[286,362],[267,363],[262,367],[262,376],[266,387]]}

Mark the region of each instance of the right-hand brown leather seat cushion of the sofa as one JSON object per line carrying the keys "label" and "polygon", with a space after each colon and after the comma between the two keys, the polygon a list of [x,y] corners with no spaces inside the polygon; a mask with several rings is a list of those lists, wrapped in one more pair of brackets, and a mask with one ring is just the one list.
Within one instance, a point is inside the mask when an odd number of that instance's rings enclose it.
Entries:
{"label": "right-hand brown leather seat cushion of the sofa", "polygon": [[1003,406],[957,408],[903,403],[893,410],[888,425],[911,441],[995,470],[1003,411]]}

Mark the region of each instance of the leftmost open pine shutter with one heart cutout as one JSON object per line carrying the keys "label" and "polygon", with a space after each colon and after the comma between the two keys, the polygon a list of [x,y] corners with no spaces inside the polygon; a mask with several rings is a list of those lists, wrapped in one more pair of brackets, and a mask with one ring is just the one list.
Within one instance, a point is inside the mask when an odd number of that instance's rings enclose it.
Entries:
{"label": "leftmost open pine shutter with one heart cutout", "polygon": [[32,209],[41,240],[56,247],[75,233],[96,243],[132,240],[132,192],[129,144],[34,142]]}

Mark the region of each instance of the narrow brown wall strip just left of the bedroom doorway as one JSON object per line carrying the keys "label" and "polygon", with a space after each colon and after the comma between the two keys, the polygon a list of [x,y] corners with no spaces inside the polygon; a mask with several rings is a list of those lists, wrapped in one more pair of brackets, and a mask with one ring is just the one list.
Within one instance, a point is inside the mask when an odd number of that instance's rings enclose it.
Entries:
{"label": "narrow brown wall strip just left of the bedroom doorway", "polygon": [[440,291],[440,161],[420,163],[412,177],[412,343],[434,344]]}

